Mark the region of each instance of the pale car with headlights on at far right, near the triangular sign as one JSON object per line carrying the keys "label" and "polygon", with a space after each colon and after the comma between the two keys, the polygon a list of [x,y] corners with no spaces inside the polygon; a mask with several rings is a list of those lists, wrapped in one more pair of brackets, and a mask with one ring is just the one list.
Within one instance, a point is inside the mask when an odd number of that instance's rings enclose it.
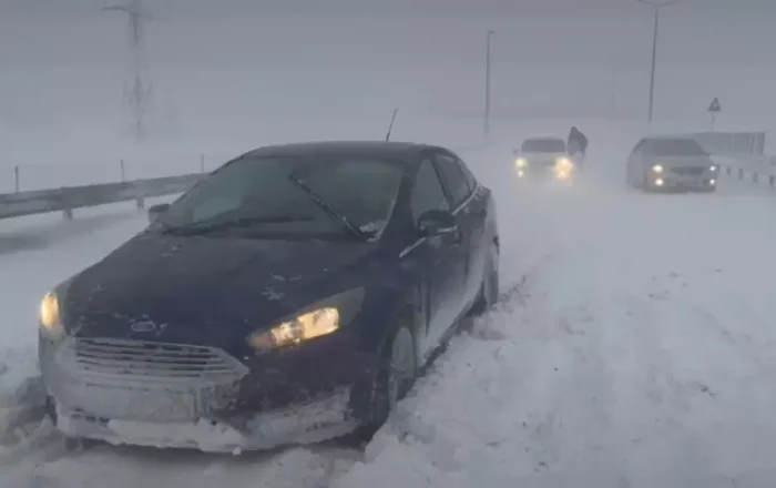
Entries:
{"label": "pale car with headlights on at far right, near the triangular sign", "polygon": [[718,176],[719,166],[692,138],[644,138],[627,159],[627,185],[644,191],[714,192]]}

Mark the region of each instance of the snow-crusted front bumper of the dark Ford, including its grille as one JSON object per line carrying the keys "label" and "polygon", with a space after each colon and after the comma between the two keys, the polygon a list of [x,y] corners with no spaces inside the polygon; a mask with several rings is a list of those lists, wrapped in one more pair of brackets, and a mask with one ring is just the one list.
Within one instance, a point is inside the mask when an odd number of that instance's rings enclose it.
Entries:
{"label": "snow-crusted front bumper of the dark Ford, including its grille", "polygon": [[[372,359],[346,336],[243,360],[219,349],[120,339],[41,342],[68,436],[207,451],[268,449],[351,431]],[[360,410],[360,411],[359,411]]]}

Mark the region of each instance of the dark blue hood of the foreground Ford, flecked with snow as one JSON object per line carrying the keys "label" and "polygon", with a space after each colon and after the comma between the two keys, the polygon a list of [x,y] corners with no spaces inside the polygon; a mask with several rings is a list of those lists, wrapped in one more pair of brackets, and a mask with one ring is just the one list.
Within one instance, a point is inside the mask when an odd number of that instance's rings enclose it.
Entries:
{"label": "dark blue hood of the foreground Ford, flecked with snow", "polygon": [[227,347],[222,343],[233,332],[244,338],[329,288],[348,287],[376,250],[376,243],[142,234],[68,283],[64,323],[78,337]]}

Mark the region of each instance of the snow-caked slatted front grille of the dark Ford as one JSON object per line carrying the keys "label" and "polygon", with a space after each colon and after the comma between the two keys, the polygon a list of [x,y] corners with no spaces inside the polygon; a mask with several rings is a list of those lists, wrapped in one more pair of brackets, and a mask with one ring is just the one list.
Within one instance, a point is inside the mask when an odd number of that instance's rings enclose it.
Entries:
{"label": "snow-caked slatted front grille of the dark Ford", "polygon": [[236,382],[247,373],[221,349],[146,340],[69,338],[57,355],[67,374],[86,383],[202,386]]}

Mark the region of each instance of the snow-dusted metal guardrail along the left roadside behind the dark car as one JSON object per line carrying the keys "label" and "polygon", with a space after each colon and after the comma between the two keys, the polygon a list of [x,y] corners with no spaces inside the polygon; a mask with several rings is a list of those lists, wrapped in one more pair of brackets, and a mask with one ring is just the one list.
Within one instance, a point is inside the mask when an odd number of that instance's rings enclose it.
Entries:
{"label": "snow-dusted metal guardrail along the left roadside behind the dark car", "polygon": [[49,212],[63,212],[65,218],[72,218],[75,209],[130,201],[137,202],[137,207],[143,209],[145,199],[183,193],[204,176],[206,174],[192,173],[121,183],[0,194],[0,218]]}

